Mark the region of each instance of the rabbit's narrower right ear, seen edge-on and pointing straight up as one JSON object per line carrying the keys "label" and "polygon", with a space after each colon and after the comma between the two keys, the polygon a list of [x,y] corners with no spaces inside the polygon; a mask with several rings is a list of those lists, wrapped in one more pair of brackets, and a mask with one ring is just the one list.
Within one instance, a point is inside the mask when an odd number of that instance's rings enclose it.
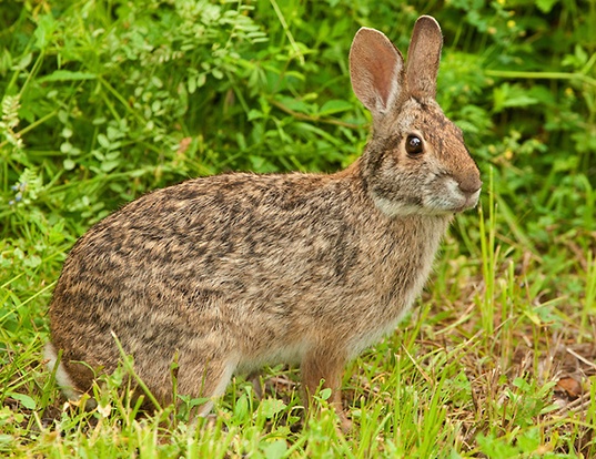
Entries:
{"label": "rabbit's narrower right ear, seen edge-on and pointing straight up", "polygon": [[412,95],[435,98],[442,47],[443,34],[438,22],[430,16],[421,16],[414,26],[407,50],[405,74]]}

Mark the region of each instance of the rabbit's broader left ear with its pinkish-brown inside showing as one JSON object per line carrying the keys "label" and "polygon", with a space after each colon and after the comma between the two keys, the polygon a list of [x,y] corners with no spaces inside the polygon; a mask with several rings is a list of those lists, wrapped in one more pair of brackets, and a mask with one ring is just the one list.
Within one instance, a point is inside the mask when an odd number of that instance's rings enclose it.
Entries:
{"label": "rabbit's broader left ear with its pinkish-brown inside showing", "polygon": [[350,50],[352,88],[374,118],[386,113],[400,96],[404,58],[382,32],[362,28]]}

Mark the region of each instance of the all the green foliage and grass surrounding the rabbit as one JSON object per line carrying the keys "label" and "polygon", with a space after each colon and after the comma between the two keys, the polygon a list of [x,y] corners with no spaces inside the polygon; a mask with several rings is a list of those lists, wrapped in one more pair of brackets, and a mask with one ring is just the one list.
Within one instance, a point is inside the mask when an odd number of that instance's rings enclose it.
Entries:
{"label": "all the green foliage and grass surrounding the rabbit", "polygon": [[[236,379],[192,430],[110,397],[63,405],[41,366],[65,254],[141,193],[228,170],[335,171],[367,136],[347,53],[445,35],[438,101],[485,178],[413,317],[344,378],[356,428],[300,429],[293,369]],[[0,3],[0,451],[14,457],[594,457],[593,0]],[[172,420],[173,419],[173,420]],[[205,456],[208,455],[208,456]]]}

